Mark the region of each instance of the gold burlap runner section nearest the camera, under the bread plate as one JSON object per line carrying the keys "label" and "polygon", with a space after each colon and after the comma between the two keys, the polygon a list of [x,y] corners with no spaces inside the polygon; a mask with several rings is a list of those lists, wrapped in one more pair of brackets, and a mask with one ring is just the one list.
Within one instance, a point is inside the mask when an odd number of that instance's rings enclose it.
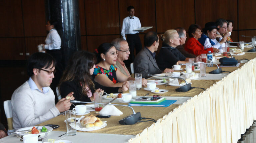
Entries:
{"label": "gold burlap runner section nearest the camera, under the bread plate", "polygon": [[[169,107],[146,107],[146,106],[132,106],[132,107],[135,110],[135,112],[141,113],[141,117],[153,118],[155,120],[158,120],[162,118],[164,115],[167,115],[169,112],[173,111],[173,109],[175,109],[178,106],[179,104],[172,104]],[[123,112],[123,115],[111,116],[110,118],[101,118],[102,121],[107,121],[107,126],[99,130],[88,131],[88,132],[136,135],[138,133],[141,133],[145,128],[149,127],[154,123],[150,121],[150,122],[139,122],[134,125],[121,125],[119,124],[118,121],[132,114],[132,110],[124,106],[116,106],[116,107]],[[93,114],[95,116],[98,115],[96,112],[90,112],[89,114]],[[77,117],[81,117],[81,116],[77,116]],[[46,124],[56,124],[56,125],[60,125],[60,127],[57,129],[53,129],[54,131],[67,131],[66,123],[64,122],[64,120],[65,120],[65,115],[59,115],[55,118],[52,118],[48,121],[38,124],[38,126],[43,126]],[[82,131],[78,131],[78,132],[82,132]]]}

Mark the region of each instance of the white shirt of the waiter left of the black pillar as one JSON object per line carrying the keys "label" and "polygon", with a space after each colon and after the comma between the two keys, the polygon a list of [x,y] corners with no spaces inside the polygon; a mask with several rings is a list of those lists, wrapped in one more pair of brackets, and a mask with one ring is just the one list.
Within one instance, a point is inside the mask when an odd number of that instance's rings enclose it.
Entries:
{"label": "white shirt of the waiter left of the black pillar", "polygon": [[49,31],[45,43],[44,48],[47,50],[57,50],[61,48],[61,39],[57,30],[52,29]]}

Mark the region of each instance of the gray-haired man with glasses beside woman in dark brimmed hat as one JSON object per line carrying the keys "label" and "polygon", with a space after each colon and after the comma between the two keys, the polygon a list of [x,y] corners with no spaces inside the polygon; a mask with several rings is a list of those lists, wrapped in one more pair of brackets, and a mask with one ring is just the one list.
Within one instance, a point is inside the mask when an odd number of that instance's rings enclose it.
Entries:
{"label": "gray-haired man with glasses beside woman in dark brimmed hat", "polygon": [[220,37],[217,36],[216,40],[218,42],[220,42],[222,38],[225,38],[227,40],[227,37],[229,37],[229,33],[227,33],[228,22],[223,18],[219,18],[216,20],[215,23],[217,28],[219,29],[217,30],[216,34],[221,35]]}

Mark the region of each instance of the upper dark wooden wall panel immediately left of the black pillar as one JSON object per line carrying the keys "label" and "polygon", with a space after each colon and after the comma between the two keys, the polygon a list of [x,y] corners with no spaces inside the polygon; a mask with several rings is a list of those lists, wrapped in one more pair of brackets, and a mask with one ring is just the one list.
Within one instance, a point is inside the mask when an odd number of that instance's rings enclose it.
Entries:
{"label": "upper dark wooden wall panel immediately left of the black pillar", "polygon": [[22,0],[25,36],[46,36],[45,3],[43,0]]}

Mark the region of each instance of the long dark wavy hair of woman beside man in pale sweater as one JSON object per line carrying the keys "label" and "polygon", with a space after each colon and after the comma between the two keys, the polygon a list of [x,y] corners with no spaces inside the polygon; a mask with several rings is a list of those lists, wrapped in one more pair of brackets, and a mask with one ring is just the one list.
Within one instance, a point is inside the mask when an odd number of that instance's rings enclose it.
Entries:
{"label": "long dark wavy hair of woman beside man in pale sweater", "polygon": [[[90,69],[93,68],[95,55],[87,51],[77,51],[69,59],[68,65],[60,79],[60,85],[65,81],[73,81],[78,84],[81,94],[87,95],[90,88],[94,88]],[[86,88],[88,87],[88,88]]]}

